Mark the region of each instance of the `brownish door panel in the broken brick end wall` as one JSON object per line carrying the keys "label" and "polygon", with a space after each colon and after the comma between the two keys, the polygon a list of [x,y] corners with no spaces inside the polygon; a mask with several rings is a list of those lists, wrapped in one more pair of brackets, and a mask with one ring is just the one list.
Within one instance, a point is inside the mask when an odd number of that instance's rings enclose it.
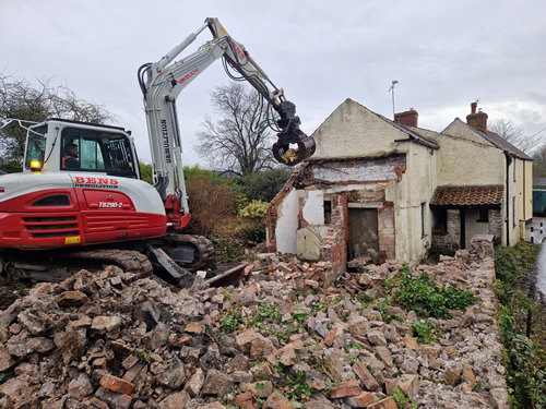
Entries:
{"label": "brownish door panel in the broken brick end wall", "polygon": [[373,263],[379,263],[377,208],[349,208],[348,222],[351,229],[349,260],[369,256]]}

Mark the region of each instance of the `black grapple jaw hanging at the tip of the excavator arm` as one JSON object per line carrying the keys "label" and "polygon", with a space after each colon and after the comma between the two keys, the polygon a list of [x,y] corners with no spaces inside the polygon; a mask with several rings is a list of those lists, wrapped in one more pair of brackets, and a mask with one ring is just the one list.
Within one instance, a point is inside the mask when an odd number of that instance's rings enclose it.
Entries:
{"label": "black grapple jaw hanging at the tip of the excavator arm", "polygon": [[[276,134],[277,142],[273,144],[273,156],[283,165],[295,166],[311,157],[317,145],[312,137],[307,136],[299,129],[301,121],[296,116],[296,106],[293,103],[281,103],[278,112],[281,119],[277,121],[277,125],[281,128],[281,132]],[[290,144],[297,146],[290,147]]]}

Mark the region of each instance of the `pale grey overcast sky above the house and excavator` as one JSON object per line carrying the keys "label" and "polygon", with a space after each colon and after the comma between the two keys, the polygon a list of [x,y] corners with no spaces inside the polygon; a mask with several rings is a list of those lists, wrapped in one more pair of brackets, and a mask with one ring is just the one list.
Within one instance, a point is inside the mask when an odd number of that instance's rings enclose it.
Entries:
{"label": "pale grey overcast sky above the house and excavator", "polygon": [[[546,129],[544,0],[0,0],[0,72],[51,79],[104,105],[150,160],[136,70],[205,17],[218,17],[297,105],[311,134],[346,98],[392,118],[414,108],[419,127],[465,120],[472,101],[489,121]],[[211,39],[204,31],[181,57]],[[213,113],[210,92],[229,80],[218,62],[178,98],[188,165]],[[546,131],[541,133],[546,140]]]}

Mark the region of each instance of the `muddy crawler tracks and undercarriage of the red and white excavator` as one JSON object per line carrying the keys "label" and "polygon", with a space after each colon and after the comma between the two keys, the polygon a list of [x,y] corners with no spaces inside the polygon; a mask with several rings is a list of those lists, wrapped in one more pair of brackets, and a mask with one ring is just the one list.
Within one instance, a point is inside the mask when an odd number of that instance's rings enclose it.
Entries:
{"label": "muddy crawler tracks and undercarriage of the red and white excavator", "polygon": [[206,268],[213,258],[214,246],[206,238],[167,234],[109,248],[0,251],[0,274],[32,281],[61,281],[81,269],[96,272],[115,265],[138,278],[155,274],[170,285],[187,288],[194,279],[190,272]]}

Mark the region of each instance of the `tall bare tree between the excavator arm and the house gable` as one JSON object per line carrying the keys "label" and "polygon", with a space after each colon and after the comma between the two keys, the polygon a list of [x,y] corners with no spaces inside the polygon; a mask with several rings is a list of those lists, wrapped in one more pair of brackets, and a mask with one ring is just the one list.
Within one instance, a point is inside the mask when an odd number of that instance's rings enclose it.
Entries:
{"label": "tall bare tree between the excavator arm and the house gable", "polygon": [[268,119],[260,122],[266,108],[257,92],[241,83],[218,86],[211,93],[217,119],[205,117],[204,130],[198,132],[199,156],[211,166],[238,176],[271,169],[274,160],[271,152],[272,132]]}

